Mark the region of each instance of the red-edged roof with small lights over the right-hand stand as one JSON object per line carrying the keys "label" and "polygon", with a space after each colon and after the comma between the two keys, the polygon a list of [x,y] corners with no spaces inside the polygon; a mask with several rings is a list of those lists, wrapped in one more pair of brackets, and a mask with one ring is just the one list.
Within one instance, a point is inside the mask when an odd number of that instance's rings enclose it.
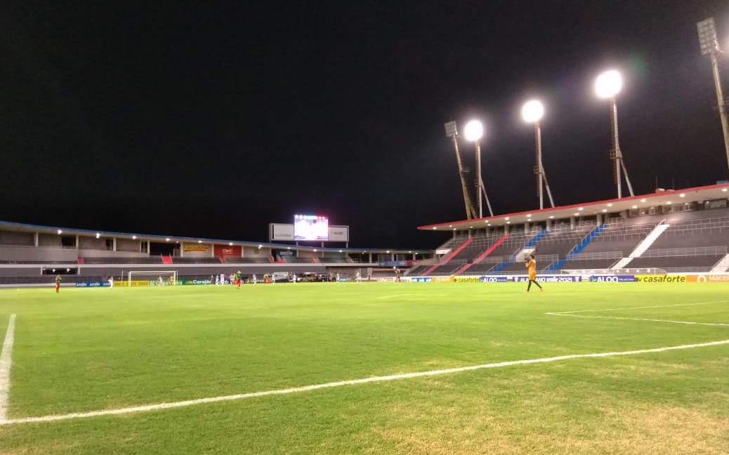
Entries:
{"label": "red-edged roof with small lights over the right-hand stand", "polygon": [[525,222],[546,221],[547,219],[590,217],[596,214],[617,213],[630,209],[727,198],[729,198],[729,183],[721,183],[706,187],[686,188],[685,190],[656,190],[655,193],[647,195],[573,204],[571,206],[550,207],[549,209],[542,210],[520,211],[512,214],[496,215],[494,217],[442,222],[434,225],[418,226],[418,229],[443,231],[481,229],[485,227],[495,228],[504,225],[522,225]]}

